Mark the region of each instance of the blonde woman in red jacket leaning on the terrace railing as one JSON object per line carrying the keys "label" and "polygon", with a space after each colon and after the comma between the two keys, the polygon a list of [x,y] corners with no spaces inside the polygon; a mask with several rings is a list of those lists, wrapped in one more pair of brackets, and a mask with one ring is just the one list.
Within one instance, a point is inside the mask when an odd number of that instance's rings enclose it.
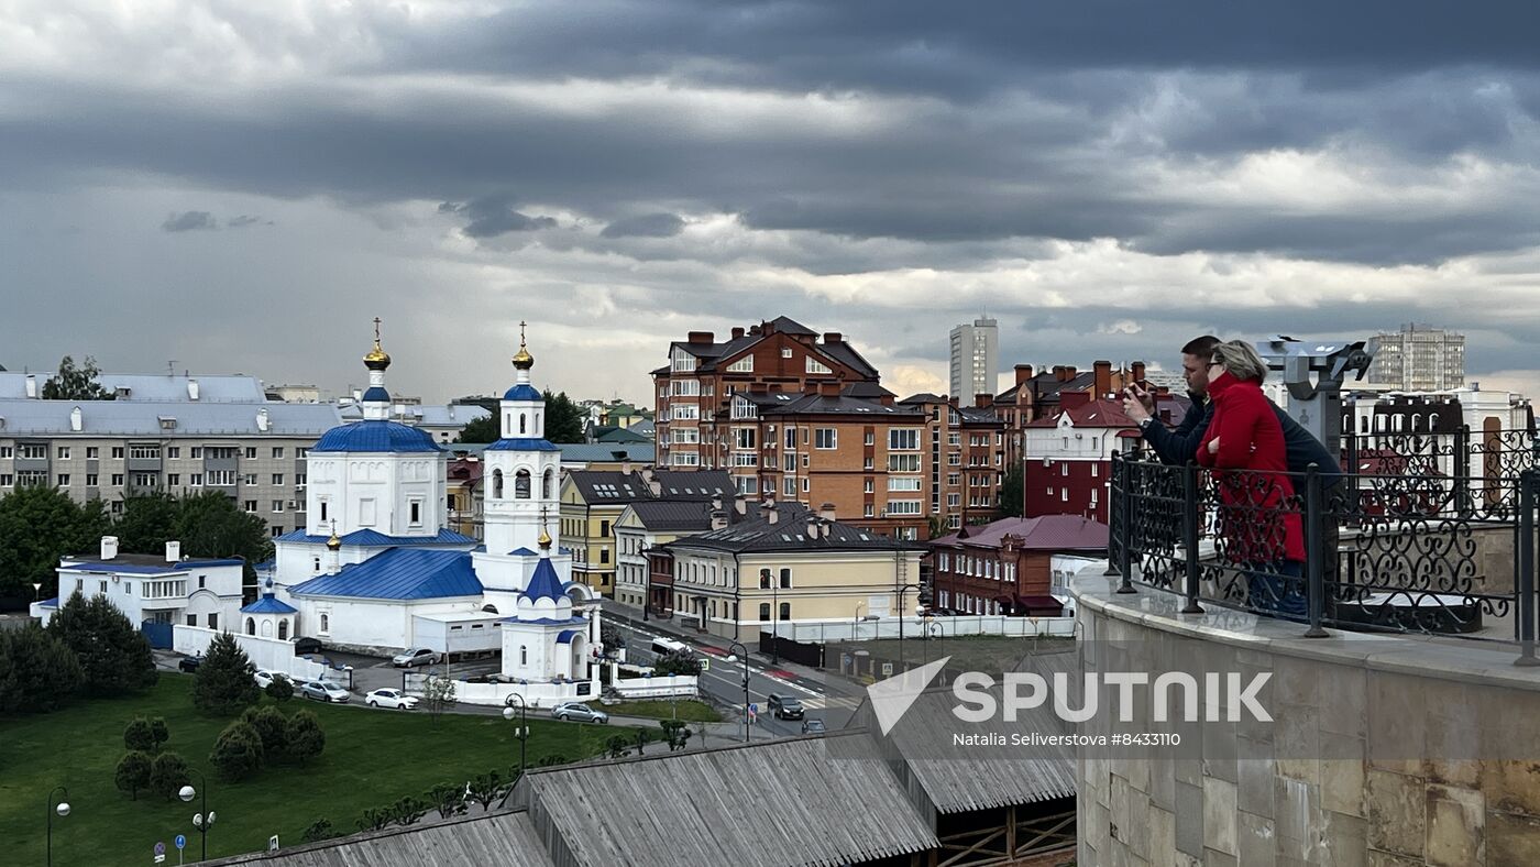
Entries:
{"label": "blonde woman in red jacket leaning on the terrace railing", "polygon": [[1301,616],[1304,527],[1292,502],[1283,425],[1261,393],[1266,376],[1267,365],[1250,343],[1215,346],[1209,365],[1214,420],[1197,459],[1214,470],[1220,550],[1249,573],[1252,608]]}

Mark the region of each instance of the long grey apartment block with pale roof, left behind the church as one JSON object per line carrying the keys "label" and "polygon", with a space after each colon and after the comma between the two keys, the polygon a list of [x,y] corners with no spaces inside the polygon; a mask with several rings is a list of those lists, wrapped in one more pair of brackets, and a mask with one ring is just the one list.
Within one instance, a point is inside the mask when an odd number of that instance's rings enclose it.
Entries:
{"label": "long grey apartment block with pale roof, left behind the church", "polygon": [[77,502],[220,491],[273,536],[305,528],[305,456],[342,423],[328,403],[0,399],[0,496],[52,485]]}

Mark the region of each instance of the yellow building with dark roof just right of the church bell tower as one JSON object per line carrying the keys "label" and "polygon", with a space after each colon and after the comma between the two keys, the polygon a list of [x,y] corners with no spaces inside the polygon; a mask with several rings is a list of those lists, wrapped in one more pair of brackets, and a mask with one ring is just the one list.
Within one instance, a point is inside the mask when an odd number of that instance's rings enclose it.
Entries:
{"label": "yellow building with dark roof just right of the church bell tower", "polygon": [[634,473],[567,473],[561,491],[561,547],[573,553],[573,581],[613,596],[618,567],[614,524],[633,502],[710,502],[711,497],[732,496],[733,480],[725,471],[644,468]]}

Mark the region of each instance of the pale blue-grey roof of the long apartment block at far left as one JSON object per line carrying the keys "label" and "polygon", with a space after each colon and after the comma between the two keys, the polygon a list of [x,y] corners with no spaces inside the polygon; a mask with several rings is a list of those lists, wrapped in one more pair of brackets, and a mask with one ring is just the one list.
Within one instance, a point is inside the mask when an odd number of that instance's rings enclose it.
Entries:
{"label": "pale blue-grey roof of the long apartment block at far left", "polygon": [[[80,430],[71,413],[80,408]],[[266,428],[259,427],[266,417]],[[0,399],[0,436],[271,436],[316,439],[342,423],[330,403]]]}

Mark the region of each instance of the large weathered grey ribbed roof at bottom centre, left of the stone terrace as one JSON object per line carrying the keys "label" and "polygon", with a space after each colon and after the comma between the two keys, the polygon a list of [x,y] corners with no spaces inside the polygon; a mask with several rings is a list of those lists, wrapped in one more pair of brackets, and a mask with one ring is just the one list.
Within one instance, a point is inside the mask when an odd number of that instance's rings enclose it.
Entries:
{"label": "large weathered grey ribbed roof at bottom centre, left of the stone terrace", "polygon": [[[833,739],[867,761],[832,761]],[[939,845],[864,735],[533,770],[513,798],[562,865],[842,865]]]}

